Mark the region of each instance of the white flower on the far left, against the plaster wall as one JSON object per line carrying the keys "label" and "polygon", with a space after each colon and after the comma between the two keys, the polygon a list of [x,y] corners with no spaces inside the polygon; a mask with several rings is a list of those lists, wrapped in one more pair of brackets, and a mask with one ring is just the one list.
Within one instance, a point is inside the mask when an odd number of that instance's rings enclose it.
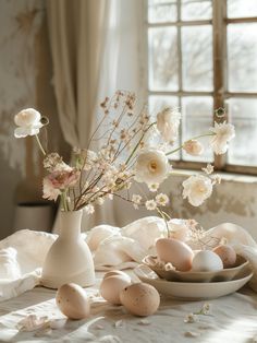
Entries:
{"label": "white flower on the far left, against the plaster wall", "polygon": [[39,129],[44,126],[40,121],[41,115],[34,108],[21,110],[14,117],[14,122],[19,127],[14,130],[15,138],[24,138],[39,133]]}

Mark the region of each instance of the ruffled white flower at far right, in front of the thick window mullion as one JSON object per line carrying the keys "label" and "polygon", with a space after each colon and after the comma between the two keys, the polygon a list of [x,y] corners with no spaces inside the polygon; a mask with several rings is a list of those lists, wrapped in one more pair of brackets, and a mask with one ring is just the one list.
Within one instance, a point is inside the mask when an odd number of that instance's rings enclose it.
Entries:
{"label": "ruffled white flower at far right, in front of the thick window mullion", "polygon": [[235,129],[232,123],[215,122],[215,127],[210,129],[213,132],[213,137],[210,140],[210,145],[217,155],[227,153],[229,142],[235,137]]}

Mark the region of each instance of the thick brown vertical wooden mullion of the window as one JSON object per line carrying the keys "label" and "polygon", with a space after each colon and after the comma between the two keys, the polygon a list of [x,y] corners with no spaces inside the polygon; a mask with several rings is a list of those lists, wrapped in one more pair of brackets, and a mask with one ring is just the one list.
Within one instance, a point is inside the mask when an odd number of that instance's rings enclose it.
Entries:
{"label": "thick brown vertical wooden mullion of the window", "polygon": [[[227,1],[212,0],[213,7],[213,107],[224,107],[224,91],[227,91],[225,82],[225,55],[227,55]],[[215,114],[215,110],[213,110]],[[213,121],[223,121],[228,118],[216,118]],[[217,169],[224,169],[227,162],[225,155],[215,156],[215,166]]]}

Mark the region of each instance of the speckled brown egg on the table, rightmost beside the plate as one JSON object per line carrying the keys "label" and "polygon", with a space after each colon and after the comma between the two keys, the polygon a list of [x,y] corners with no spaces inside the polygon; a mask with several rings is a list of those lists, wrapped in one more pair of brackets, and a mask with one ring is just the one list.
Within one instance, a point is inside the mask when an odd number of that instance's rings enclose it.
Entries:
{"label": "speckled brown egg on the table, rightmost beside the plate", "polygon": [[146,317],[155,314],[160,305],[156,288],[146,283],[135,283],[125,287],[121,294],[121,304],[135,316]]}

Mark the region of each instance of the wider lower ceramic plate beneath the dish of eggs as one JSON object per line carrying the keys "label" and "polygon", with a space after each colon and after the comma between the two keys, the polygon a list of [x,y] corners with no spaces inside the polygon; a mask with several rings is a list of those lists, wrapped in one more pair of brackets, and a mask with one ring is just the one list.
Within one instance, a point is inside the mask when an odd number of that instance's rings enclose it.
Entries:
{"label": "wider lower ceramic plate beneath the dish of eggs", "polygon": [[238,291],[253,276],[248,265],[237,276],[224,282],[173,282],[159,279],[158,275],[145,264],[134,269],[134,273],[142,281],[146,282],[166,296],[172,296],[182,300],[213,299]]}

